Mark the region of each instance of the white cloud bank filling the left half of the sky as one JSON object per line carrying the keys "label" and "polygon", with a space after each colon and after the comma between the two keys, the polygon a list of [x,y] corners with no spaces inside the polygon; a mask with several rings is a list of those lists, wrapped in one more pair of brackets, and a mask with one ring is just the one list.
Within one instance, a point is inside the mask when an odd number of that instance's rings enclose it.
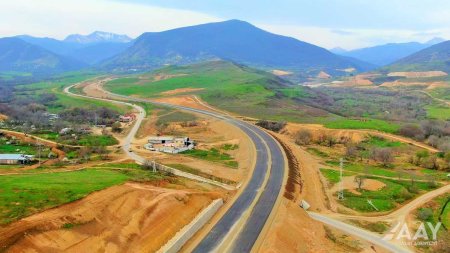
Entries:
{"label": "white cloud bank filling the left half of the sky", "polygon": [[107,0],[0,1],[0,36],[64,38],[94,30],[130,36],[219,21],[207,14]]}

